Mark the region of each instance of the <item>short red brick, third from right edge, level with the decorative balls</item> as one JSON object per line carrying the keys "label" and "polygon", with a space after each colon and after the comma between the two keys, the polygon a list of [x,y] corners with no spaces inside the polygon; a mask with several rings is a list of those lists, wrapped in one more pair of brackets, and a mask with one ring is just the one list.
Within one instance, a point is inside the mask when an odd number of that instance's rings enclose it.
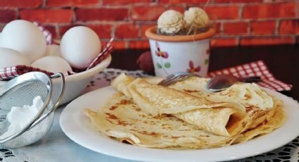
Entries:
{"label": "short red brick, third from right edge, level with the decorative balls", "polygon": [[248,23],[224,23],[224,33],[226,35],[246,35],[248,34]]}

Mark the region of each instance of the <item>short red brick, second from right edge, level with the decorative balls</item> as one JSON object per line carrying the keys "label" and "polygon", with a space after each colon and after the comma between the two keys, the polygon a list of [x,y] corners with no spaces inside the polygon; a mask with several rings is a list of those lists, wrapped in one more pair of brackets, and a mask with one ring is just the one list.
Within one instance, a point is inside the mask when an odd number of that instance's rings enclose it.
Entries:
{"label": "short red brick, second from right edge, level with the decorative balls", "polygon": [[271,35],[274,34],[276,27],[275,21],[260,21],[251,23],[251,34]]}

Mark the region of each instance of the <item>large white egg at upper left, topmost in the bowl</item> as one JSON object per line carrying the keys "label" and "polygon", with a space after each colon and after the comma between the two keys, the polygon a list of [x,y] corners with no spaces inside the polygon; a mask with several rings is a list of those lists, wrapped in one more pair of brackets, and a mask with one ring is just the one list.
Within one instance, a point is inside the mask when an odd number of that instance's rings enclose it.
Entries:
{"label": "large white egg at upper left, topmost in the bowl", "polygon": [[1,47],[15,49],[33,62],[46,51],[46,39],[39,27],[27,20],[13,20],[1,33]]}

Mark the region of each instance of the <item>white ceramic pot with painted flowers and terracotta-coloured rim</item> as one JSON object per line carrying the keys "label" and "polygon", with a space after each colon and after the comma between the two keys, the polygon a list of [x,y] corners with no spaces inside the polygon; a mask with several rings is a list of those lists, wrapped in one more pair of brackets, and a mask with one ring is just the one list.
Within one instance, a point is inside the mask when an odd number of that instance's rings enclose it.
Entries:
{"label": "white ceramic pot with painted flowers and terracotta-coloured rim", "polygon": [[168,36],[156,34],[156,27],[146,30],[151,46],[155,75],[165,77],[175,72],[207,76],[210,58],[210,37],[214,28],[197,35]]}

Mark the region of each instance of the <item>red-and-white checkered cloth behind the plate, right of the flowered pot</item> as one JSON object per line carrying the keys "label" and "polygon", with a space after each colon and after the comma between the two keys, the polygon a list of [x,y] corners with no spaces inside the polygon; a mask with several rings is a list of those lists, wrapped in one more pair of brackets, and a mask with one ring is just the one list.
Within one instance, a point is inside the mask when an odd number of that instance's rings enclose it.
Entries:
{"label": "red-and-white checkered cloth behind the plate, right of the flowered pot", "polygon": [[260,76],[262,82],[257,82],[257,85],[273,89],[275,91],[288,91],[291,90],[293,85],[288,85],[285,82],[277,80],[263,61],[255,61],[252,63],[246,63],[240,66],[235,66],[231,68],[224,68],[222,70],[216,70],[208,73],[209,77],[214,77],[215,75],[231,74],[236,77],[252,77]]}

